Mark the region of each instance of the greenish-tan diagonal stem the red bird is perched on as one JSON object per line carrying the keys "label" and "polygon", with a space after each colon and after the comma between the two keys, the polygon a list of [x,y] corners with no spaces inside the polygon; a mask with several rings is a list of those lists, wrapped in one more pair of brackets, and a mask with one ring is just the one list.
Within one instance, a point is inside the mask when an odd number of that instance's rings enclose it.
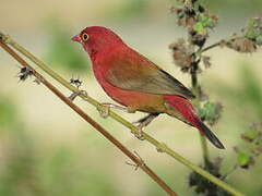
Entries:
{"label": "greenish-tan diagonal stem the red bird is perched on", "polygon": [[[79,90],[76,87],[74,87],[70,83],[68,83],[64,78],[62,78],[60,75],[58,75],[51,69],[49,69],[44,62],[38,60],[35,56],[33,56],[31,52],[28,52],[26,49],[24,49],[19,44],[16,44],[10,37],[7,37],[3,34],[1,34],[0,36],[2,36],[3,41],[5,41],[10,46],[12,46],[14,49],[20,51],[21,53],[23,53],[26,58],[28,58],[31,61],[33,61],[37,66],[43,69],[48,75],[53,77],[56,81],[58,81],[64,87],[67,87],[71,91],[78,91]],[[95,106],[97,109],[102,109],[102,107],[103,107],[99,102],[97,102],[95,99],[91,98],[87,95],[81,94],[80,97],[83,98],[84,100],[86,100],[87,102],[90,102],[91,105]],[[121,118],[117,113],[115,113],[112,111],[109,111],[109,117],[115,119],[116,121],[118,121],[122,125],[127,126],[128,128],[132,130],[133,132],[135,132],[135,133],[140,132],[138,130],[138,127],[135,127],[132,123],[128,122],[126,119]],[[146,134],[144,132],[142,132],[142,136],[145,140],[147,140],[148,143],[154,145],[157,148],[158,151],[166,152],[167,155],[175,158],[180,163],[182,163],[182,164],[187,166],[188,168],[192,169],[193,171],[195,171],[200,175],[204,176],[205,179],[209,179],[211,182],[213,182],[217,186],[222,187],[223,189],[227,191],[228,193],[230,193],[233,195],[236,195],[236,196],[243,196],[243,194],[241,194],[239,191],[235,189],[234,187],[231,187],[227,183],[225,183],[225,182],[221,181],[219,179],[215,177],[214,175],[210,174],[209,172],[206,172],[202,168],[191,163],[190,161],[188,161],[187,159],[184,159],[183,157],[178,155],[176,151],[170,149],[164,143],[160,143],[160,142],[156,140],[155,138],[153,138],[152,136],[150,136],[148,134]]]}

